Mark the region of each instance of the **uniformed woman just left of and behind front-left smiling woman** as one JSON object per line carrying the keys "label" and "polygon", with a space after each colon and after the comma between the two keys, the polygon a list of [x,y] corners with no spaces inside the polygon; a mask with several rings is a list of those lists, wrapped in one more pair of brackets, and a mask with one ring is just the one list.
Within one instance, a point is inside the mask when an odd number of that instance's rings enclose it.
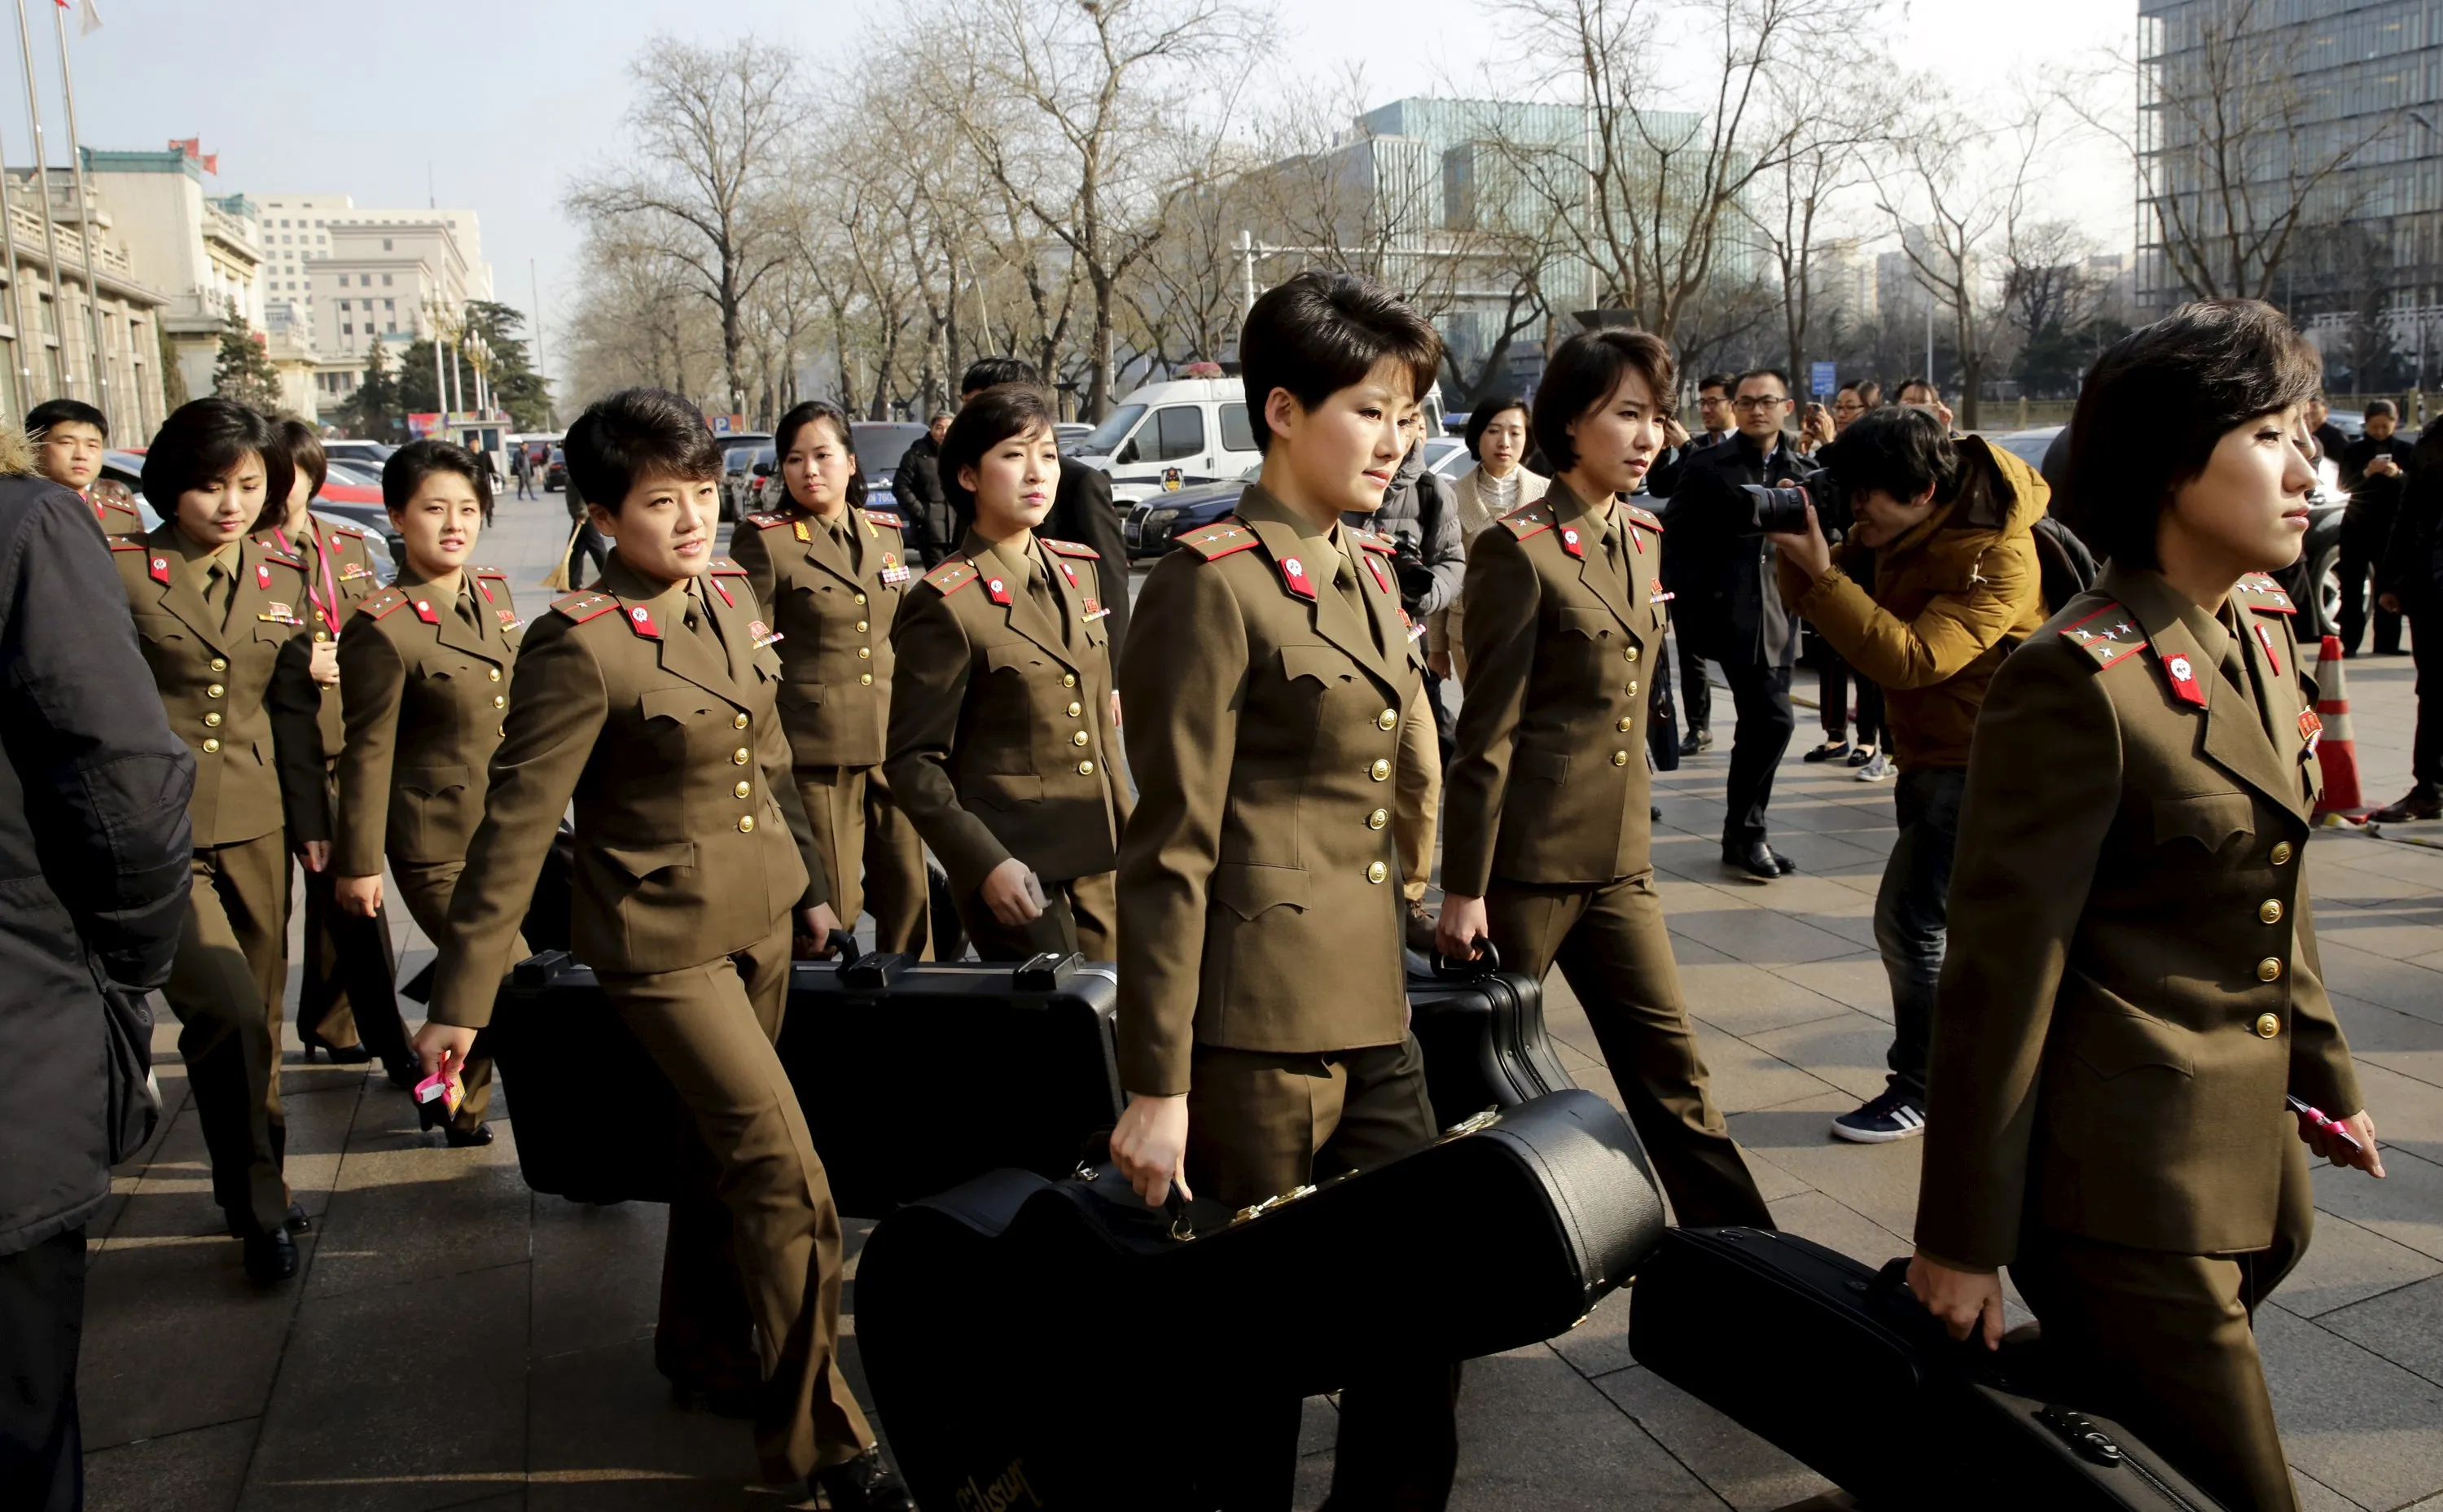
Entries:
{"label": "uniformed woman just left of and behind front-left smiling woman", "polygon": [[[340,635],[347,743],[330,872],[337,906],[381,921],[381,862],[415,928],[450,933],[450,889],[484,818],[484,779],[508,708],[525,620],[508,576],[469,567],[491,484],[457,442],[408,442],[381,469],[406,545],[398,581],[364,598]],[[384,940],[388,926],[384,923]],[[523,955],[523,948],[513,948]],[[491,1060],[476,1060],[452,1146],[489,1146]]]}

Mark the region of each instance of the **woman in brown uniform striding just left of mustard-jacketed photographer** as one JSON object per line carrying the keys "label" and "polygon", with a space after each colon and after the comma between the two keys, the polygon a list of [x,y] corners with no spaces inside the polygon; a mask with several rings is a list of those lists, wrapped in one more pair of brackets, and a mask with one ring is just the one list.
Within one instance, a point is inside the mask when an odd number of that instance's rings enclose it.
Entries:
{"label": "woman in brown uniform striding just left of mustard-jacketed photographer", "polygon": [[1661,452],[1671,352],[1603,330],[1554,352],[1534,432],[1559,469],[1468,557],[1468,686],[1441,855],[1451,958],[1559,962],[1681,1224],[1774,1219],[1705,1089],[1654,889],[1644,674],[1664,655],[1661,520],[1622,503]]}

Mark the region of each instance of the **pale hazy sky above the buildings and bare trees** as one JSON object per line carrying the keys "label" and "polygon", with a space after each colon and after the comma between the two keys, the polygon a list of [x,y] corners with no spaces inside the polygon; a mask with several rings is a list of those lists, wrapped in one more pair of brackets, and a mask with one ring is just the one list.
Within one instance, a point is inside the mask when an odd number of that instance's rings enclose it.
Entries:
{"label": "pale hazy sky above the buildings and bare trees", "polygon": [[[203,137],[220,154],[213,193],[349,193],[359,205],[469,205],[498,296],[528,308],[540,274],[545,325],[567,298],[577,232],[559,210],[567,181],[611,159],[628,100],[625,64],[655,32],[694,42],[740,34],[799,49],[821,88],[855,81],[867,27],[897,0],[98,0],[105,27],[68,29],[78,125],[90,147],[159,149]],[[1485,0],[1397,0],[1385,7],[1285,0],[1283,56],[1317,73],[1361,64],[1368,103],[1466,90],[1502,49]],[[37,85],[54,161],[66,161],[51,5],[27,0]],[[2118,46],[2135,0],[1906,0],[1903,64],[1940,68],[1972,98]],[[15,49],[0,49],[12,54]],[[0,64],[0,78],[22,73]],[[1473,90],[1471,90],[1473,93]],[[0,147],[32,156],[22,88],[0,100]],[[2099,149],[2064,149],[2047,205],[2106,249],[2128,244],[2125,169]],[[545,332],[550,344],[550,330]],[[550,359],[550,352],[545,352]]]}

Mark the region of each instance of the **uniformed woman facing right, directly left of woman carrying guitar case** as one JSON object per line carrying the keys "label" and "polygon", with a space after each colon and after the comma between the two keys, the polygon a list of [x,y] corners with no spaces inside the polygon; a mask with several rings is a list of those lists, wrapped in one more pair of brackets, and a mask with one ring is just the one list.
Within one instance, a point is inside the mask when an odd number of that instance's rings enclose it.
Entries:
{"label": "uniformed woman facing right, directly left of woman carrying guitar case", "polygon": [[1112,960],[1129,791],[1109,611],[1094,547],[1033,532],[1060,484],[1043,391],[977,393],[941,442],[941,479],[970,525],[899,613],[892,791],[950,870],[980,958]]}

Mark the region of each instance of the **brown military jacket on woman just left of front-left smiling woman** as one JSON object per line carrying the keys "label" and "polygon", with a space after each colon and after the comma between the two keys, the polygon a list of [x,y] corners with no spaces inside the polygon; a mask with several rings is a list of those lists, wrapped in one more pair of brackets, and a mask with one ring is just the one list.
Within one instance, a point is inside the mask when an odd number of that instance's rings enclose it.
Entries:
{"label": "brown military jacket on woman just left of front-left smiling woman", "polygon": [[362,601],[340,635],[340,877],[376,877],[384,855],[467,860],[484,818],[484,767],[506,733],[525,620],[503,574],[469,567],[462,576],[457,601],[435,601],[403,574]]}

